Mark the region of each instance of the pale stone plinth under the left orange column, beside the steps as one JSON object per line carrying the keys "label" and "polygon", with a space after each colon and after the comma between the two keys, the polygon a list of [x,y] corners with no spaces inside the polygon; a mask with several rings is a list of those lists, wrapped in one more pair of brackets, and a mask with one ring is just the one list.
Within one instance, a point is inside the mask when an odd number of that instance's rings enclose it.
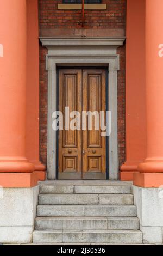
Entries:
{"label": "pale stone plinth under the left orange column, beside the steps", "polygon": [[32,243],[38,195],[39,186],[1,188],[0,243]]}

